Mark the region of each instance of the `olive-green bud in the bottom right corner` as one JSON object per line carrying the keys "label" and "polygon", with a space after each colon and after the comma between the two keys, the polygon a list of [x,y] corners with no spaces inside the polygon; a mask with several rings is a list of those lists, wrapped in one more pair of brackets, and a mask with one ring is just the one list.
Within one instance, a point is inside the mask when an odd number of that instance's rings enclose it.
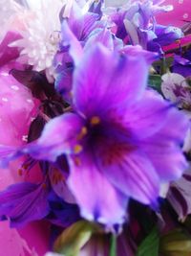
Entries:
{"label": "olive-green bud in the bottom right corner", "polygon": [[191,236],[175,229],[160,239],[159,250],[163,256],[191,256]]}

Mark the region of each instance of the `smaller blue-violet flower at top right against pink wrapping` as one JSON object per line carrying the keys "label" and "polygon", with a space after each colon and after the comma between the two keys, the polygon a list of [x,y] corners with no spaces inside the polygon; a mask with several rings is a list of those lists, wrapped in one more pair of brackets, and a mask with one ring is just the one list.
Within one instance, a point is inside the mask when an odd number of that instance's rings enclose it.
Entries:
{"label": "smaller blue-violet flower at top right against pink wrapping", "polygon": [[155,15],[171,10],[170,6],[160,7],[159,4],[158,1],[136,1],[128,10],[112,14],[117,36],[122,39],[128,36],[131,44],[139,44],[153,52],[160,52],[161,46],[179,39],[182,35],[179,28],[157,25]]}

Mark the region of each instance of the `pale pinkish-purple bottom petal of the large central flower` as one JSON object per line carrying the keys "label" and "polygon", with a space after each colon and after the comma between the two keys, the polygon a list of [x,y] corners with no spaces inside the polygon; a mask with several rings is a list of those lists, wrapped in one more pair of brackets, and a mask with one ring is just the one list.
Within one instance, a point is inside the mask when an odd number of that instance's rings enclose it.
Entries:
{"label": "pale pinkish-purple bottom petal of the large central flower", "polygon": [[70,157],[70,166],[69,187],[79,204],[81,215],[108,226],[125,221],[127,197],[99,172],[91,153],[87,151]]}

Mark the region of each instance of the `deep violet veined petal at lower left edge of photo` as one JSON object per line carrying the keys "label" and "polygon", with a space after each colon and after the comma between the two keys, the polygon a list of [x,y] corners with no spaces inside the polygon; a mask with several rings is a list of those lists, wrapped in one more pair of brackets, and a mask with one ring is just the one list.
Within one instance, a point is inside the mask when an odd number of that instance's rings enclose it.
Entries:
{"label": "deep violet veined petal at lower left edge of photo", "polygon": [[43,219],[49,213],[49,190],[44,185],[29,182],[11,185],[0,193],[0,215],[9,218],[14,227]]}

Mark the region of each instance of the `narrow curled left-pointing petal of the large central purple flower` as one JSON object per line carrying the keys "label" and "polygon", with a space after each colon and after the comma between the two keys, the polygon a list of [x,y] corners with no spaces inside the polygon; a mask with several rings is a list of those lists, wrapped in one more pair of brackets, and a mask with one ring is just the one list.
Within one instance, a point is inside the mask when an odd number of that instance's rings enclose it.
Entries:
{"label": "narrow curled left-pointing petal of the large central purple flower", "polygon": [[83,120],[75,114],[55,117],[45,126],[41,137],[26,146],[24,152],[35,159],[55,161],[57,156],[74,151],[82,127]]}

